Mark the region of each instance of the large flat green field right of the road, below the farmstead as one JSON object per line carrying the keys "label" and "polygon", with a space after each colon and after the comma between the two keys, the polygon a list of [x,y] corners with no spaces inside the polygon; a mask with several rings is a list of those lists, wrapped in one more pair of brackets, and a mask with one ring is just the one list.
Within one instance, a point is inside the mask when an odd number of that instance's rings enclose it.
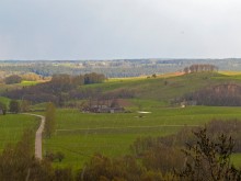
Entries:
{"label": "large flat green field right of the road, below the farmstead", "polygon": [[95,152],[110,157],[128,154],[129,145],[138,137],[170,135],[185,125],[205,125],[213,118],[241,118],[239,108],[148,108],[145,111],[151,113],[140,117],[137,112],[90,114],[58,110],[57,131],[50,139],[44,140],[45,151],[66,155],[56,166],[80,168]]}

